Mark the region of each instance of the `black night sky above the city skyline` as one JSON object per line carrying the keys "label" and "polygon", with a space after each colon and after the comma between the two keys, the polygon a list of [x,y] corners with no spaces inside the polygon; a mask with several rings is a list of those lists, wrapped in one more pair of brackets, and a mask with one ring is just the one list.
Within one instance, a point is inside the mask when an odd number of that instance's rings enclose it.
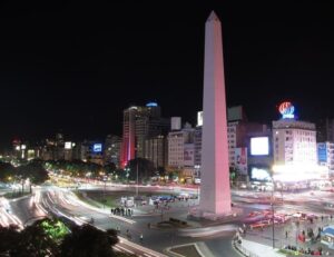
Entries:
{"label": "black night sky above the city skyline", "polygon": [[223,27],[228,106],[268,123],[282,100],[303,120],[333,117],[330,1],[84,2],[1,3],[0,148],[60,130],[76,140],[120,136],[122,109],[150,100],[163,116],[195,123],[212,10]]}

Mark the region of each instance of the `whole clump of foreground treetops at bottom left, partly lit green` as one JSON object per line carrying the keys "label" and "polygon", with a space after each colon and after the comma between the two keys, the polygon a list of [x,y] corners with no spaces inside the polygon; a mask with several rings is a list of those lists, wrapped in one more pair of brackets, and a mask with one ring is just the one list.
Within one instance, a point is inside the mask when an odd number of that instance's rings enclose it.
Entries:
{"label": "whole clump of foreground treetops at bottom left, partly lit green", "polygon": [[[70,227],[70,229],[68,228]],[[60,219],[43,218],[19,230],[0,226],[0,256],[12,257],[129,257],[115,253],[117,231],[102,231],[90,225],[77,226]]]}

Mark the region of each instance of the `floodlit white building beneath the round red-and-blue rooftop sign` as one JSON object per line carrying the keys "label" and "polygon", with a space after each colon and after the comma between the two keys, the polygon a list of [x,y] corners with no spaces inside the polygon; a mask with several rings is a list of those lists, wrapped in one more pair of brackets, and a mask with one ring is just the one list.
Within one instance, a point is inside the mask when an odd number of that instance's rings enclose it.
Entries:
{"label": "floodlit white building beneath the round red-and-blue rooftop sign", "polygon": [[315,123],[273,121],[274,178],[295,181],[320,178]]}

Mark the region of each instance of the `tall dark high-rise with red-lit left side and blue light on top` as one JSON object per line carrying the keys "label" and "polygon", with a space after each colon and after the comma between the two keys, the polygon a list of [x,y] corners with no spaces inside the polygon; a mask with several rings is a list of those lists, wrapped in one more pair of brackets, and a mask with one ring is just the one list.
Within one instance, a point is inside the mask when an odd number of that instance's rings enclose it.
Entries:
{"label": "tall dark high-rise with red-lit left side and blue light on top", "polygon": [[135,158],[145,158],[145,141],[166,135],[169,126],[169,119],[160,117],[160,107],[156,102],[149,102],[145,107],[131,106],[124,110],[120,166],[125,167]]}

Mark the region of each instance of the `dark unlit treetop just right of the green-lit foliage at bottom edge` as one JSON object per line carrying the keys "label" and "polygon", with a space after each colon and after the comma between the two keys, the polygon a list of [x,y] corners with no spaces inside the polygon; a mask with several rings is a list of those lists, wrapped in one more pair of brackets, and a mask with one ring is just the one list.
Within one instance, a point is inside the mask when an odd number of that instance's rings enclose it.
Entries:
{"label": "dark unlit treetop just right of the green-lit foliage at bottom edge", "polygon": [[102,231],[90,225],[77,226],[72,228],[60,246],[62,257],[112,257],[112,245],[117,244],[115,230]]}

